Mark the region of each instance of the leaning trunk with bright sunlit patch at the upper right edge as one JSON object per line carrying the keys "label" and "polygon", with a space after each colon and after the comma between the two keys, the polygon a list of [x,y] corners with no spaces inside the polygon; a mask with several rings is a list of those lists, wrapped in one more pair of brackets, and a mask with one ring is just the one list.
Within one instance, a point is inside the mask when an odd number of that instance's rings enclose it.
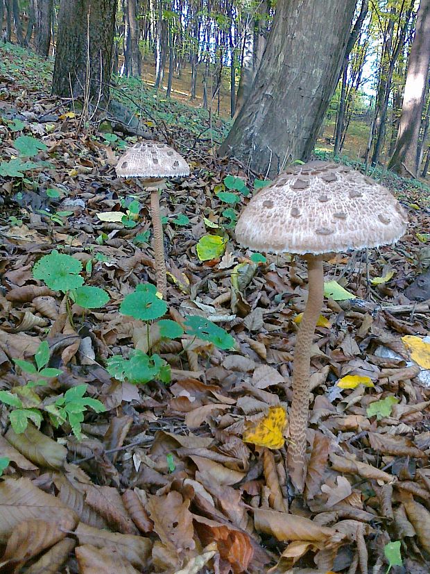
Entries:
{"label": "leaning trunk with bright sunlit patch at the upper right edge", "polygon": [[421,0],[415,25],[393,158],[388,164],[398,174],[418,174],[418,139],[430,63],[430,0]]}

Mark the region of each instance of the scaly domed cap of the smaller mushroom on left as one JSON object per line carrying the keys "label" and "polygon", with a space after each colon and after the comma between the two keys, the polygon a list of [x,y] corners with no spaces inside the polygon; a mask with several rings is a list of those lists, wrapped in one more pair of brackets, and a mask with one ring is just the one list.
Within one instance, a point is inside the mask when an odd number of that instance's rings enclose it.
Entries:
{"label": "scaly domed cap of the smaller mushroom on left", "polygon": [[117,163],[120,178],[175,178],[189,174],[189,164],[177,151],[159,142],[139,142]]}

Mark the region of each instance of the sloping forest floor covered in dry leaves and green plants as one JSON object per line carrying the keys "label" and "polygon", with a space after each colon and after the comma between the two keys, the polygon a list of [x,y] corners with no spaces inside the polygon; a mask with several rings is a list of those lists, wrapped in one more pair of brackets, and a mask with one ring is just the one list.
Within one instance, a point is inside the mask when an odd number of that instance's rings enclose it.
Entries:
{"label": "sloping forest floor covered in dry leaves and green plants", "polygon": [[295,496],[306,271],[237,246],[261,181],[216,158],[223,119],[119,80],[191,167],[161,198],[160,300],[148,194],[114,171],[136,137],[51,97],[51,71],[0,47],[0,571],[428,573],[430,308],[404,289],[429,265],[429,188],[372,170],[408,231],[325,264]]}

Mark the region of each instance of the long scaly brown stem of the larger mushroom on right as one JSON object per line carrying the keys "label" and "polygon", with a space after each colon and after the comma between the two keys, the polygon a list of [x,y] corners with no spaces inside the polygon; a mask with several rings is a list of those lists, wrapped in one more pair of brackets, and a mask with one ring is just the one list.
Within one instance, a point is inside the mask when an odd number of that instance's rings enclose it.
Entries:
{"label": "long scaly brown stem of the larger mushroom on right", "polygon": [[307,473],[306,431],[309,410],[309,367],[311,346],[316,323],[324,298],[322,256],[307,255],[308,298],[295,341],[293,361],[293,402],[290,415],[291,444],[288,447],[287,468],[291,482],[298,492],[304,489]]}

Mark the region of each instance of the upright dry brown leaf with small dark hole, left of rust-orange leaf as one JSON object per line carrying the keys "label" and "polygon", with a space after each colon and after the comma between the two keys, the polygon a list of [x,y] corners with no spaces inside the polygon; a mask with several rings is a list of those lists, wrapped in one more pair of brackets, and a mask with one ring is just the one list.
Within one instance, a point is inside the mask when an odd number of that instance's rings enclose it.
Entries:
{"label": "upright dry brown leaf with small dark hole, left of rust-orange leaf", "polygon": [[196,547],[189,500],[184,500],[179,492],[150,496],[148,511],[162,543],[175,548],[178,554]]}

